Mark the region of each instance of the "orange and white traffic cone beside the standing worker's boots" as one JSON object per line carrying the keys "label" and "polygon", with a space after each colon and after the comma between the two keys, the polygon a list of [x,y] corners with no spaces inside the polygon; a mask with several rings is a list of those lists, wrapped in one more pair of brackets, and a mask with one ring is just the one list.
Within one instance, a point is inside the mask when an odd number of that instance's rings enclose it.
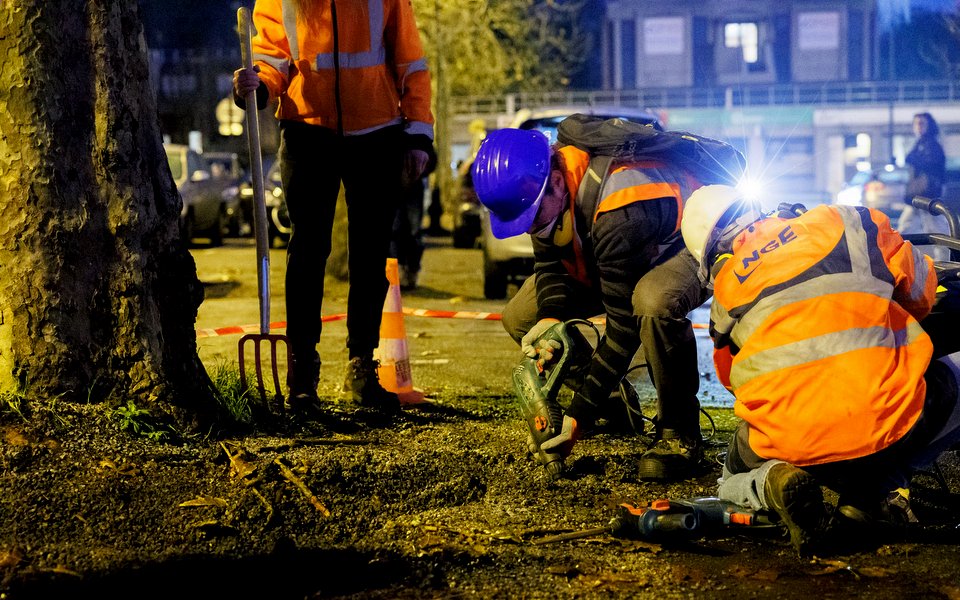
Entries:
{"label": "orange and white traffic cone beside the standing worker's boots", "polygon": [[374,357],[380,361],[377,371],[380,385],[400,397],[401,404],[424,402],[423,393],[413,389],[407,331],[403,326],[403,305],[400,302],[400,275],[397,259],[387,259],[387,281],[390,287],[383,302],[380,322],[380,345]]}

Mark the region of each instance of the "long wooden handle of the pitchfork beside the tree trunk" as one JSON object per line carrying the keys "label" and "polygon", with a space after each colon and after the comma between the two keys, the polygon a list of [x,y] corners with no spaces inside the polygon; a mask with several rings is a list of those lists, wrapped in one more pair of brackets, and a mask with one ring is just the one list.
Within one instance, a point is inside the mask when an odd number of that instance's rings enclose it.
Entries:
{"label": "long wooden handle of the pitchfork beside the tree trunk", "polygon": [[[253,22],[250,9],[237,9],[237,30],[240,33],[240,56],[243,67],[253,67]],[[260,120],[257,115],[257,92],[247,93],[247,142],[250,147],[250,172],[253,178],[253,229],[257,239],[257,283],[260,291],[260,333],[270,333],[270,242],[267,204],[263,194],[263,161],[260,157]]]}

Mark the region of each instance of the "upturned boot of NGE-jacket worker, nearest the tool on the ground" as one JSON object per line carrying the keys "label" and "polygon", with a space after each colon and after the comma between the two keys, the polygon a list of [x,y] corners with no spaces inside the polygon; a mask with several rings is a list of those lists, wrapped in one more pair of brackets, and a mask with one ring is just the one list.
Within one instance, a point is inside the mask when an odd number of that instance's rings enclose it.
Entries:
{"label": "upturned boot of NGE-jacket worker, nearest the tool on the ground", "polygon": [[800,556],[819,550],[829,522],[823,491],[812,475],[791,464],[774,465],[763,484],[763,497],[790,533]]}

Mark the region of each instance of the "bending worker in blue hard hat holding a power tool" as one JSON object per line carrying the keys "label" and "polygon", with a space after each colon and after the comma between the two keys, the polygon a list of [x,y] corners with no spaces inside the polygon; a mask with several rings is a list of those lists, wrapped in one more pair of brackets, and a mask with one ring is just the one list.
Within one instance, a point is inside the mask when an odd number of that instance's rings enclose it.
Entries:
{"label": "bending worker in blue hard hat holding a power tool", "polygon": [[581,432],[610,412],[611,393],[642,342],[657,390],[657,439],[641,456],[638,474],[688,479],[703,458],[697,343],[688,314],[709,295],[679,225],[684,199],[700,183],[659,160],[613,162],[607,173],[594,173],[591,158],[573,145],[551,145],[539,131],[506,128],[487,135],[473,163],[492,233],[533,238],[534,273],[502,318],[524,354],[543,358],[535,343],[555,323],[606,315],[563,431],[539,449],[569,456]]}

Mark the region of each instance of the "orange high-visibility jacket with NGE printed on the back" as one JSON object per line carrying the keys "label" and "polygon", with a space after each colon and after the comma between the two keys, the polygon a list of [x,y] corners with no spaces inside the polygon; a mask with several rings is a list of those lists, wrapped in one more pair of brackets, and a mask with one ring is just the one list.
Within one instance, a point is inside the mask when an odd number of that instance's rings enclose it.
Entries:
{"label": "orange high-visibility jacket with NGE printed on the back", "polygon": [[710,321],[750,447],[802,466],[903,437],[923,409],[933,347],[918,321],[936,286],[933,261],[878,211],[818,206],[741,234]]}

